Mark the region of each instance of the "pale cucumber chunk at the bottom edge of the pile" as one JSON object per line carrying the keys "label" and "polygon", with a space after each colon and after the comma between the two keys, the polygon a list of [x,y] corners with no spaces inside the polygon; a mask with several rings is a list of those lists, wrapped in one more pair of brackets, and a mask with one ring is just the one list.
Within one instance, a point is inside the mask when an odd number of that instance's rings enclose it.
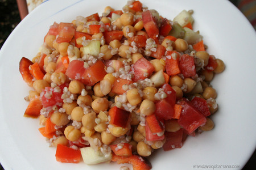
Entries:
{"label": "pale cucumber chunk at the bottom edge of the pile", "polygon": [[109,162],[112,159],[112,154],[104,155],[100,150],[95,151],[92,147],[80,148],[82,160],[88,165],[94,165],[104,162]]}

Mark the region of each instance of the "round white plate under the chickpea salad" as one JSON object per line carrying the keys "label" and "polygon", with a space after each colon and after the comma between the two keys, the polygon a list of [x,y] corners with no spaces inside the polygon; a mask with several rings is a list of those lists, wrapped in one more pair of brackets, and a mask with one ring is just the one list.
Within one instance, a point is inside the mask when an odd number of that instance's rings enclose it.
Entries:
{"label": "round white plate under the chickpea salad", "polygon": [[[173,19],[180,11],[193,9],[195,29],[204,36],[208,52],[221,58],[226,69],[212,82],[218,92],[218,112],[212,116],[212,131],[189,137],[184,146],[155,152],[152,169],[192,169],[196,167],[245,165],[256,146],[256,35],[246,18],[229,1],[142,1],[160,15]],[[20,58],[32,59],[42,45],[49,25],[71,22],[78,15],[88,16],[105,6],[121,9],[126,1],[51,0],[32,11],[15,28],[0,52],[0,160],[8,169],[118,169],[121,165],[87,166],[59,163],[55,148],[40,135],[38,120],[24,118],[27,84],[19,73]],[[233,167],[235,168],[235,167]],[[239,169],[239,168],[238,168]]]}

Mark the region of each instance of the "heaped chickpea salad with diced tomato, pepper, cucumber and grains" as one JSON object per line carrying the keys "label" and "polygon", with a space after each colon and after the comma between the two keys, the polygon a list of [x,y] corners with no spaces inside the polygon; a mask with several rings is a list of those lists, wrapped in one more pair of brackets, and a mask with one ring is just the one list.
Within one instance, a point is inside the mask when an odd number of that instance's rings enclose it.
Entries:
{"label": "heaped chickpea salad with diced tomato, pepper, cucumber and grains", "polygon": [[225,65],[205,51],[192,14],[170,20],[128,1],[122,10],[108,6],[101,16],[49,27],[19,70],[31,87],[24,116],[39,118],[58,162],[151,169],[154,150],[180,148],[213,129],[210,82]]}

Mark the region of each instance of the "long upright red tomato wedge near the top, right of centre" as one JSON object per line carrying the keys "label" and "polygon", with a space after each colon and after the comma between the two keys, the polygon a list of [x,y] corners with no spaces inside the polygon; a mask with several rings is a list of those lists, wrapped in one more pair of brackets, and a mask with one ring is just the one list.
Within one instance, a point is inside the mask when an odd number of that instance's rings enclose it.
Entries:
{"label": "long upright red tomato wedge near the top, right of centre", "polygon": [[159,35],[159,29],[150,10],[142,12],[142,21],[147,35],[154,40],[157,39]]}

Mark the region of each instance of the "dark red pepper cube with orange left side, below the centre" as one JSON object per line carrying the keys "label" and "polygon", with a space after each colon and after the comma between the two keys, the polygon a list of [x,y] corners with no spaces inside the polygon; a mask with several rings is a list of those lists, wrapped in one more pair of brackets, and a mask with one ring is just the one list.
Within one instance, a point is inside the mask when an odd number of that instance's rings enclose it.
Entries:
{"label": "dark red pepper cube with orange left side, below the centre", "polygon": [[127,126],[127,123],[130,117],[130,112],[127,112],[118,107],[113,107],[109,109],[109,116],[110,116],[109,124],[125,128]]}

